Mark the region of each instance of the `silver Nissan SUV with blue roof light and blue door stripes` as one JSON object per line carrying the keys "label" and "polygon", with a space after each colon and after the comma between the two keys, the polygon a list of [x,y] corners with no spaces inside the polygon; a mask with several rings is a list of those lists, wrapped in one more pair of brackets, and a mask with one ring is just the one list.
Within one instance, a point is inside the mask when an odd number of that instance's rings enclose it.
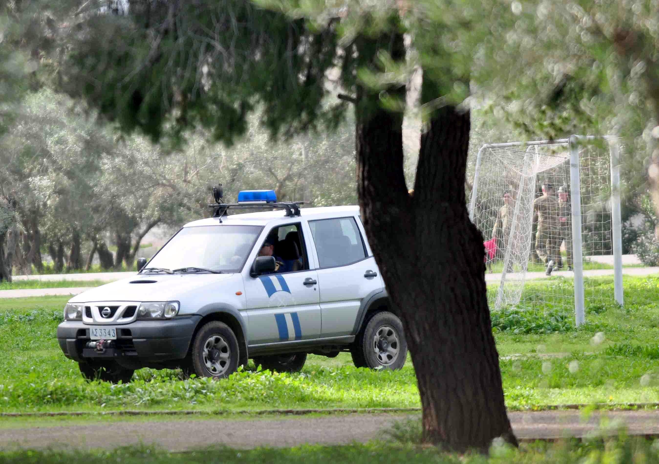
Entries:
{"label": "silver Nissan SUV with blue roof light and blue door stripes", "polygon": [[57,339],[84,377],[128,382],[150,367],[224,378],[248,359],[295,372],[309,353],[341,351],[358,367],[405,364],[357,206],[301,209],[272,190],[238,198],[140,258],[137,275],[72,297]]}

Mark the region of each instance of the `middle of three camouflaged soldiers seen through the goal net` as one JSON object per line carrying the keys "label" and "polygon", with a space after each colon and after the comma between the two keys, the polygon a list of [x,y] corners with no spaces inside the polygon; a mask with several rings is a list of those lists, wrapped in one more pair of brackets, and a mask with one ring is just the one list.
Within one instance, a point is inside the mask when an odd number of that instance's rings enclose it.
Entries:
{"label": "middle of three camouflaged soldiers seen through the goal net", "polygon": [[538,256],[546,264],[547,275],[552,274],[559,258],[559,202],[554,196],[554,187],[545,183],[542,185],[542,196],[533,200],[533,217],[537,218],[535,248]]}

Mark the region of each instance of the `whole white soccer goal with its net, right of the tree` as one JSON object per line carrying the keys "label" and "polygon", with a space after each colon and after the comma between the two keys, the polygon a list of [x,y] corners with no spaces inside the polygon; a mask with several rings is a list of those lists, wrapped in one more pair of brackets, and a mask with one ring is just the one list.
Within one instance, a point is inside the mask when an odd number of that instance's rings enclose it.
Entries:
{"label": "whole white soccer goal with its net, right of the tree", "polygon": [[478,150],[469,215],[490,245],[492,310],[575,314],[579,326],[586,309],[623,303],[619,150],[577,135]]}

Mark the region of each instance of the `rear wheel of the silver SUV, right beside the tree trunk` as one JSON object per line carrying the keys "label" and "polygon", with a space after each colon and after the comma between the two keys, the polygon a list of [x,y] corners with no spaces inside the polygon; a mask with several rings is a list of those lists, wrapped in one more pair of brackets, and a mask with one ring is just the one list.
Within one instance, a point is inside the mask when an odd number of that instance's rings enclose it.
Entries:
{"label": "rear wheel of the silver SUV, right beside the tree trunk", "polygon": [[391,312],[376,313],[359,333],[351,355],[357,367],[402,368],[407,359],[407,341],[401,320]]}

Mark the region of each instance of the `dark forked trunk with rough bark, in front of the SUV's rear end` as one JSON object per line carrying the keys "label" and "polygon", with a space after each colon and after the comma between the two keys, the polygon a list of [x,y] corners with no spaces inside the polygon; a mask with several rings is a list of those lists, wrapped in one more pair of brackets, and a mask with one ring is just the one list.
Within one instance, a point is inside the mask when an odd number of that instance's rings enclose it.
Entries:
{"label": "dark forked trunk with rough bark, in front of the SUV's rear end", "polygon": [[[405,57],[403,39],[391,56]],[[405,89],[392,90],[404,97]],[[483,238],[469,220],[469,112],[438,110],[422,136],[414,195],[403,173],[403,115],[357,94],[357,184],[366,235],[405,326],[423,438],[447,449],[517,445],[503,401],[486,298]]]}

